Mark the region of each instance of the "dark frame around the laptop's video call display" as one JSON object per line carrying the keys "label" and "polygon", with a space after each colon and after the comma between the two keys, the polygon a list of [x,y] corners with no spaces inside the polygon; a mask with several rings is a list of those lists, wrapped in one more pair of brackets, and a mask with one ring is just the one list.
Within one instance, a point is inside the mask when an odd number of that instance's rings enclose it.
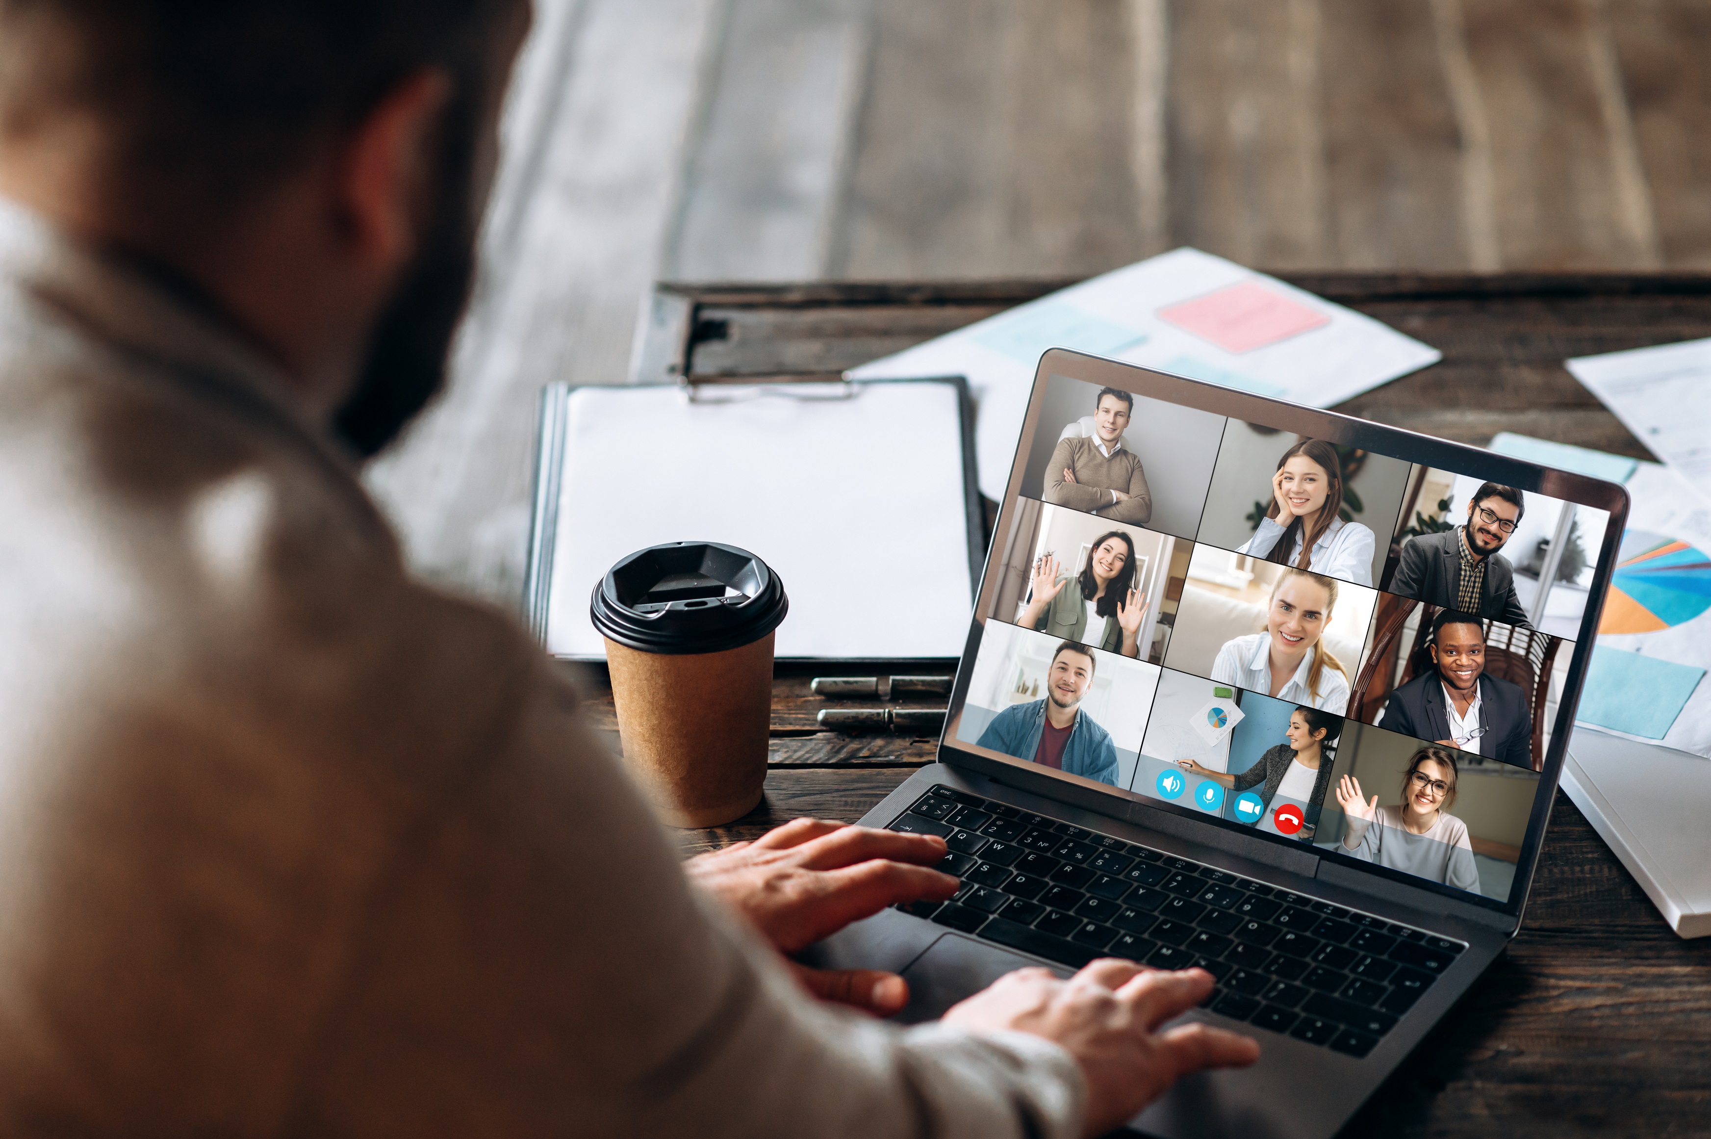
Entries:
{"label": "dark frame around the laptop's video call display", "polygon": [[[1003,558],[1003,544],[998,540],[998,535],[1004,534],[1004,527],[1009,525],[1016,498],[1021,494],[1023,472],[1033,448],[1035,434],[1040,428],[1040,410],[1045,398],[1045,387],[1052,376],[1110,387],[1134,395],[1177,404],[1181,407],[1225,416],[1228,419],[1258,422],[1261,426],[1276,428],[1278,431],[1299,436],[1343,443],[1376,451],[1379,455],[1389,455],[1410,463],[1449,469],[1458,474],[1501,482],[1521,491],[1531,491],[1547,498],[1608,511],[1603,540],[1598,544],[1598,563],[1586,595],[1586,611],[1581,614],[1579,634],[1572,641],[1574,652],[1564,679],[1562,696],[1557,703],[1557,718],[1552,729],[1550,746],[1545,752],[1538,790],[1533,797],[1533,809],[1528,816],[1526,840],[1521,845],[1521,855],[1516,862],[1514,886],[1509,891],[1509,898],[1497,901],[1494,898],[1473,894],[1442,882],[1430,882],[1412,874],[1372,865],[1348,855],[1259,833],[1239,823],[1211,819],[1199,811],[1141,795],[1138,792],[1104,787],[1071,775],[1042,773],[1035,764],[1025,759],[1001,756],[998,752],[986,754],[984,751],[974,751],[968,744],[955,739],[955,730],[962,722],[962,713],[967,705],[975,650],[979,648],[986,629],[987,617],[982,614],[991,609],[992,595],[998,590],[998,563]],[[1436,440],[1432,436],[1401,428],[1389,428],[1364,419],[1353,419],[1331,410],[1302,407],[1299,404],[1288,404],[1263,395],[1251,395],[1234,388],[1201,383],[1198,380],[1140,368],[1136,364],[1122,364],[1097,356],[1083,356],[1081,352],[1071,352],[1068,349],[1051,349],[1040,357],[1033,375],[1033,390],[1028,397],[1027,414],[1023,416],[1021,434],[1016,440],[1009,479],[1004,484],[1004,499],[999,503],[999,513],[994,522],[992,542],[987,549],[980,587],[975,590],[975,611],[970,619],[968,641],[956,669],[956,682],[951,689],[950,715],[944,720],[944,732],[939,739],[939,759],[943,763],[975,766],[999,782],[1018,783],[1025,790],[1032,790],[1035,794],[1066,792],[1061,797],[1078,800],[1081,806],[1093,806],[1088,800],[1088,795],[1093,795],[1105,804],[1093,809],[1104,809],[1107,812],[1110,812],[1110,804],[1122,804],[1124,814],[1133,817],[1134,807],[1146,807],[1150,811],[1172,816],[1179,824],[1186,826],[1191,835],[1194,831],[1203,831],[1203,838],[1201,835],[1194,835],[1203,841],[1217,841],[1228,836],[1261,841],[1268,847],[1275,847],[1278,859],[1297,867],[1304,865],[1304,860],[1311,860],[1314,864],[1312,872],[1316,872],[1321,865],[1335,865],[1343,870],[1352,870],[1357,876],[1357,881],[1359,877],[1371,877],[1372,881],[1396,882],[1519,920],[1526,906],[1526,894],[1531,889],[1538,855],[1543,848],[1545,826],[1555,799],[1557,783],[1562,776],[1569,735],[1574,727],[1574,711],[1579,706],[1581,686],[1584,684],[1586,669],[1591,660],[1593,636],[1598,629],[1598,617],[1603,611],[1605,592],[1615,571],[1615,556],[1620,547],[1622,530],[1627,523],[1627,491],[1601,479],[1543,467],[1540,463],[1497,455],[1494,451],[1465,446],[1461,443]],[[1170,829],[1179,829],[1179,826],[1172,826]],[[1249,848],[1252,850],[1252,847]],[[1340,874],[1338,877],[1347,879],[1348,876]]]}

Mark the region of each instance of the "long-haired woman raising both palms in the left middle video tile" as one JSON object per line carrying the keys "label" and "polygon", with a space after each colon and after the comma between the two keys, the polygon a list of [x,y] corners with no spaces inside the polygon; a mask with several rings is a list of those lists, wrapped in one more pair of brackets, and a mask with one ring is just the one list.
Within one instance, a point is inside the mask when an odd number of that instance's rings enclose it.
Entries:
{"label": "long-haired woman raising both palms in the left middle video tile", "polygon": [[[1102,534],[1080,575],[1061,575],[1051,554],[1033,563],[1033,592],[1016,624],[1064,641],[1140,657],[1146,595],[1134,588],[1134,540],[1122,530]],[[1075,581],[1075,588],[1066,588]],[[1088,636],[1098,631],[1098,640]]]}

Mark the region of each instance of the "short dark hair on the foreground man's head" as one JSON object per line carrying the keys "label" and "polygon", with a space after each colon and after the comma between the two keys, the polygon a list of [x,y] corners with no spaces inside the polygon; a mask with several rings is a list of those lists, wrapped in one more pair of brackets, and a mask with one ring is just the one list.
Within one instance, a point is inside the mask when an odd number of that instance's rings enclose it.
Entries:
{"label": "short dark hair on the foreground man's head", "polygon": [[412,74],[481,97],[522,0],[0,0],[0,139],[91,128],[103,209],[205,226]]}

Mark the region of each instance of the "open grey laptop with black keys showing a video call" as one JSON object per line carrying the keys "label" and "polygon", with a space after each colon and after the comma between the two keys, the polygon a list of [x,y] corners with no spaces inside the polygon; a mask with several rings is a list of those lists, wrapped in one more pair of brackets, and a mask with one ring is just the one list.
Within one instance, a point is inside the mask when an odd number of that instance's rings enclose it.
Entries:
{"label": "open grey laptop with black keys showing a video call", "polygon": [[905,1023],[1021,966],[1201,966],[1186,1019],[1261,1059],[1131,1127],[1331,1136],[1521,925],[1625,515],[1598,479],[1049,351],[938,763],[862,817],[944,836],[962,888],[811,956],[902,973]]}

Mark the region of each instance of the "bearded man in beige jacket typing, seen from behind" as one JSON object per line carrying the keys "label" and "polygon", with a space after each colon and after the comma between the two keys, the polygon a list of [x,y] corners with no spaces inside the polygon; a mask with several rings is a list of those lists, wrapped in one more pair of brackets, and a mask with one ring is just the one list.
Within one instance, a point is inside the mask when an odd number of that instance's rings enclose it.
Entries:
{"label": "bearded man in beige jacket typing, seen from behind", "polygon": [[0,0],[0,1130],[1073,1136],[1252,1042],[1203,973],[941,1024],[784,958],[955,881],[691,864],[356,479],[440,383],[513,0]]}

